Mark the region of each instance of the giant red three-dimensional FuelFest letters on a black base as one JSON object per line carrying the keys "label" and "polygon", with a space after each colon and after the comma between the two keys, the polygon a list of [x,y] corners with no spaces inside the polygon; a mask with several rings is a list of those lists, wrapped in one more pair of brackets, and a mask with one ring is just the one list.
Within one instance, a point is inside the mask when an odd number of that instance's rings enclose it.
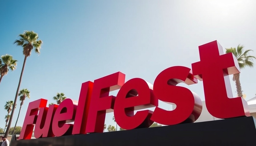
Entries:
{"label": "giant red three-dimensional FuelFest letters on a black base", "polygon": [[[105,115],[114,112],[117,124],[123,129],[149,127],[154,121],[163,125],[193,123],[202,111],[202,102],[194,92],[177,86],[183,82],[203,81],[205,104],[211,115],[225,119],[249,116],[247,102],[233,98],[229,76],[239,73],[237,59],[224,54],[215,40],[199,46],[200,61],[192,63],[192,70],[184,66],[169,67],[150,84],[141,78],[125,82],[125,74],[116,72],[84,82],[79,100],[65,99],[59,105],[47,107],[47,100],[29,103],[19,139],[59,137],[62,135],[103,132]],[[119,90],[117,96],[110,91]],[[158,107],[158,100],[176,104],[167,111]],[[154,111],[134,110],[156,107]],[[71,124],[71,122],[74,122]]]}

